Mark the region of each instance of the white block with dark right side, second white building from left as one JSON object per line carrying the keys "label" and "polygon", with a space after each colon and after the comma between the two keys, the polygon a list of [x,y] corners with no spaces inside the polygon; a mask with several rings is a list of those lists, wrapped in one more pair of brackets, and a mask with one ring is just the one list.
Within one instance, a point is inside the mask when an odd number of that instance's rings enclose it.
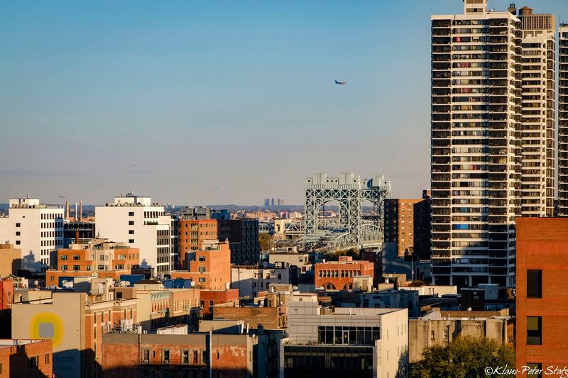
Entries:
{"label": "white block with dark right side, second white building from left", "polygon": [[128,243],[140,250],[140,266],[152,267],[154,274],[169,274],[173,264],[170,215],[150,197],[133,194],[114,197],[114,202],[95,206],[95,234],[116,243]]}

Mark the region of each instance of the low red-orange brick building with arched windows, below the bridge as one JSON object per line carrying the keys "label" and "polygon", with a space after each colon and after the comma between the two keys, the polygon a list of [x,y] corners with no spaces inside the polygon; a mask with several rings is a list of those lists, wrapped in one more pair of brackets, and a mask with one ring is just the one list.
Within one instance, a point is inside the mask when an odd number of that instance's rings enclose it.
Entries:
{"label": "low red-orange brick building with arched windows, below the bridge", "polygon": [[328,290],[353,289],[354,276],[374,276],[373,262],[353,260],[351,256],[339,256],[339,261],[315,264],[315,287]]}

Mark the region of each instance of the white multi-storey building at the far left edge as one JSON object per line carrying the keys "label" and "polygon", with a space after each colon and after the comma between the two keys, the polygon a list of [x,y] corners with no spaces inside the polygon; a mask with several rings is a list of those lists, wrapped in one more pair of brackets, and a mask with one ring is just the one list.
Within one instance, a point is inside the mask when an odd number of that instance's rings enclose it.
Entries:
{"label": "white multi-storey building at the far left edge", "polygon": [[45,272],[50,252],[63,246],[64,209],[39,199],[10,199],[8,216],[0,218],[0,241],[22,250],[22,269]]}

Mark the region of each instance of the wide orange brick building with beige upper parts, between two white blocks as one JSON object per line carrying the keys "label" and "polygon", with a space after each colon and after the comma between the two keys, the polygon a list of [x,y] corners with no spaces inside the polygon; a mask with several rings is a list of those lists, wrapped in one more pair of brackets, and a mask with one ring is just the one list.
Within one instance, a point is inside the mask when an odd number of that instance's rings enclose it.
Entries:
{"label": "wide orange brick building with beige upper parts, between two white blocks", "polygon": [[58,250],[56,268],[45,272],[45,286],[62,287],[63,280],[80,276],[119,279],[122,274],[131,274],[139,265],[138,248],[107,239],[92,239]]}

